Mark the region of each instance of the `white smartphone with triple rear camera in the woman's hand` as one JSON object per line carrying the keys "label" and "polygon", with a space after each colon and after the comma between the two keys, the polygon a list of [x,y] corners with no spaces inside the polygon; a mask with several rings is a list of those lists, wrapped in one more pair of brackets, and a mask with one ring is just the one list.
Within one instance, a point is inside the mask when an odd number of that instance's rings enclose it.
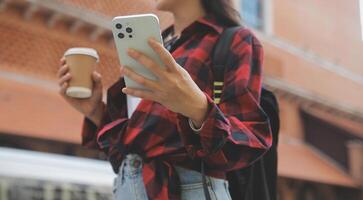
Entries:
{"label": "white smartphone with triple rear camera in the woman's hand", "polygon": [[[159,56],[148,44],[150,37],[163,44],[158,17],[154,14],[115,17],[112,20],[112,33],[121,65],[127,65],[148,79],[157,80],[157,77],[150,70],[127,54],[127,49],[138,50],[163,66]],[[130,88],[145,89],[127,76],[125,76],[125,83]]]}

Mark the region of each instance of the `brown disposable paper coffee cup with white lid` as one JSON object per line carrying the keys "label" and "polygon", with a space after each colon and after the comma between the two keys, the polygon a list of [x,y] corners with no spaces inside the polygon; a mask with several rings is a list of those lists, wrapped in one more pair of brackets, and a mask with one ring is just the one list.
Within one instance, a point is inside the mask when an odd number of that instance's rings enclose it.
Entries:
{"label": "brown disposable paper coffee cup with white lid", "polygon": [[91,48],[70,48],[64,53],[64,57],[72,75],[66,95],[73,98],[91,97],[92,72],[99,62],[97,51]]}

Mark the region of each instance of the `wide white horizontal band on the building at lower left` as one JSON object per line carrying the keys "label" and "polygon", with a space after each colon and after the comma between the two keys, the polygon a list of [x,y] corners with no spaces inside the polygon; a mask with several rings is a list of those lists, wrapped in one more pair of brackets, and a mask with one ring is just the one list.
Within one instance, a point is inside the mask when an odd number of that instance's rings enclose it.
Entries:
{"label": "wide white horizontal band on the building at lower left", "polygon": [[111,187],[107,161],[0,147],[0,177]]}

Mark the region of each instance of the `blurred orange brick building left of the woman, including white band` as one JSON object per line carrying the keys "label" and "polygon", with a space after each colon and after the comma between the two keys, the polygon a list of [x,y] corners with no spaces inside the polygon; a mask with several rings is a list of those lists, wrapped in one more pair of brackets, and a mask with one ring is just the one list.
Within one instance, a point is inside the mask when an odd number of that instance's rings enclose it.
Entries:
{"label": "blurred orange brick building left of the woman, including white band", "polygon": [[56,72],[65,50],[92,47],[109,87],[119,76],[110,19],[153,12],[152,4],[0,1],[0,200],[111,199],[115,174],[107,161],[79,158],[103,155],[80,146],[83,116],[58,94]]}

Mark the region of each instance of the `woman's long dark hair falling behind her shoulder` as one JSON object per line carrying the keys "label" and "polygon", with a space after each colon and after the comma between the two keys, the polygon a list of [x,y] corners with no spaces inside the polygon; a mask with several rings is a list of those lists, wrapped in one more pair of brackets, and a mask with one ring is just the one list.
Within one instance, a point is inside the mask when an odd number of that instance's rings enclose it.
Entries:
{"label": "woman's long dark hair falling behind her shoulder", "polygon": [[232,0],[202,0],[202,6],[207,14],[212,15],[225,26],[241,25],[241,17],[233,7]]}

